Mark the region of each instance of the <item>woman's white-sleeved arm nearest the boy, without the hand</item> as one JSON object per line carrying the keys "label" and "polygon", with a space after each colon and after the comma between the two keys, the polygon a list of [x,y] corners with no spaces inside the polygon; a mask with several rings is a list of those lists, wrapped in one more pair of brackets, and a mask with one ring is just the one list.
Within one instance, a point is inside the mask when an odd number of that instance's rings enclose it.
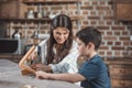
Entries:
{"label": "woman's white-sleeved arm nearest the boy, without the hand", "polygon": [[69,54],[58,64],[51,64],[53,73],[76,73],[77,69],[77,43],[74,41]]}

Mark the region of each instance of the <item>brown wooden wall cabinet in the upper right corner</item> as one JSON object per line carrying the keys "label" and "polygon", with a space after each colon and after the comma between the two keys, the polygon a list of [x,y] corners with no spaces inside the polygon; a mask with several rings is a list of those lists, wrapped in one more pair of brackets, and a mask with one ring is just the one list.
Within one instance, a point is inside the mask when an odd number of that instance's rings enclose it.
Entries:
{"label": "brown wooden wall cabinet in the upper right corner", "polygon": [[114,14],[117,20],[132,21],[132,0],[116,0]]}

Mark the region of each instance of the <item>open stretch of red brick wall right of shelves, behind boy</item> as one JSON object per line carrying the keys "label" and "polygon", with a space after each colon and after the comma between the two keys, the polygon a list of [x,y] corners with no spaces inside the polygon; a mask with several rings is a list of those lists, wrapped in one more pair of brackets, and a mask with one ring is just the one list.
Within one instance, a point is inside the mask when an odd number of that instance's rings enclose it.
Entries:
{"label": "open stretch of red brick wall right of shelves, behind boy", "polygon": [[96,26],[102,33],[102,45],[99,54],[105,57],[132,56],[132,22],[114,20],[111,0],[82,0],[81,28]]}

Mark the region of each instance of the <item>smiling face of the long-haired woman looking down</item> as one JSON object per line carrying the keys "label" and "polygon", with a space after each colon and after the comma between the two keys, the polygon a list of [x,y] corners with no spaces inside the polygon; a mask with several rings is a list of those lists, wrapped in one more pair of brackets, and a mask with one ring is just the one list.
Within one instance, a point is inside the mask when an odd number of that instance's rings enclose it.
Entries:
{"label": "smiling face of the long-haired woman looking down", "polygon": [[69,30],[66,28],[57,28],[53,31],[53,36],[57,44],[63,44],[69,36]]}

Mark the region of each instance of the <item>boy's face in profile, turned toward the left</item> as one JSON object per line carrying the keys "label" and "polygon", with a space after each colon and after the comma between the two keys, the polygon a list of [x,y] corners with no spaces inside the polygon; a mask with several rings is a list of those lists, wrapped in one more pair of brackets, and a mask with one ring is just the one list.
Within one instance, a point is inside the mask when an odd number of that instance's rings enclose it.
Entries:
{"label": "boy's face in profile, turned toward the left", "polygon": [[77,44],[78,44],[78,52],[79,52],[79,55],[87,55],[87,52],[88,52],[88,48],[87,48],[87,45],[85,45],[85,43],[82,41],[80,41],[78,37],[77,37]]}

